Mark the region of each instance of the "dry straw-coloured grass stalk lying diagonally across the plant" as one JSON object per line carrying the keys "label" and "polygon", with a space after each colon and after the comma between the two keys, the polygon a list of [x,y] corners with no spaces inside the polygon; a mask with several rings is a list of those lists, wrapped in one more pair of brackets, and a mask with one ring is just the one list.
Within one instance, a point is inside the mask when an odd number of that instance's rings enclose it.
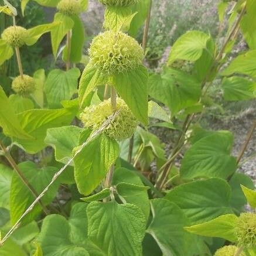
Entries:
{"label": "dry straw-coloured grass stalk lying diagonally across the plant", "polygon": [[115,111],[104,123],[103,125],[101,125],[101,127],[93,132],[89,138],[86,140],[86,142],[84,142],[80,148],[76,151],[76,153],[74,153],[74,156],[72,158],[69,159],[69,161],[67,161],[66,165],[64,165],[58,172],[56,172],[51,180],[51,182],[45,187],[45,189],[43,190],[42,193],[39,194],[39,196],[37,196],[37,198],[35,199],[35,201],[30,204],[30,206],[28,207],[28,209],[22,214],[22,216],[19,218],[18,221],[16,221],[16,223],[12,226],[12,228],[8,231],[8,233],[6,233],[6,235],[4,236],[4,238],[2,238],[2,240],[0,241],[0,247],[5,243],[5,241],[10,237],[10,235],[16,230],[16,228],[18,228],[19,224],[21,223],[21,220],[29,213],[29,211],[31,211],[33,209],[33,207],[35,206],[35,204],[37,202],[39,202],[39,200],[45,195],[45,193],[47,192],[47,190],[49,189],[50,186],[52,186],[52,184],[54,183],[54,181],[62,174],[62,172],[67,168],[67,166],[69,166],[69,164],[74,160],[74,158],[78,155],[78,153],[80,153],[83,148],[88,144],[88,142],[90,142],[93,138],[95,138],[95,136],[100,135],[101,132],[104,131],[104,129],[110,124],[110,122],[112,122],[115,117],[117,117],[117,115],[119,114],[120,111]]}

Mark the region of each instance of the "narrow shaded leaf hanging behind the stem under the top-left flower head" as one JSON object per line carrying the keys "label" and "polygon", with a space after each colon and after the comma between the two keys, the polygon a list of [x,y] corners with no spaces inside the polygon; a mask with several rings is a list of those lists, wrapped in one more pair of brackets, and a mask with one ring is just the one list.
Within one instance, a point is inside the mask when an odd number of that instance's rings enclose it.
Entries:
{"label": "narrow shaded leaf hanging behind the stem under the top-left flower head", "polygon": [[[86,35],[84,32],[84,24],[77,15],[71,16],[74,22],[71,35],[71,49],[70,49],[70,61],[78,63],[82,59],[84,41]],[[63,60],[67,60],[67,46],[63,50]]]}

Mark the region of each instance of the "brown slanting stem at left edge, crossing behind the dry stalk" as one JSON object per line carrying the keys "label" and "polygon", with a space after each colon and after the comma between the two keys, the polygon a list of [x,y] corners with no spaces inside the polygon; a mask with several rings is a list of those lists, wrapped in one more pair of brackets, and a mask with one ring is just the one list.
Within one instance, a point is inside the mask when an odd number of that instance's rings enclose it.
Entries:
{"label": "brown slanting stem at left edge, crossing behind the dry stalk", "polygon": [[[10,165],[12,166],[13,170],[15,170],[15,172],[17,173],[17,175],[19,176],[19,178],[22,180],[22,182],[24,183],[24,185],[26,187],[28,187],[28,189],[30,190],[30,192],[33,194],[33,196],[35,198],[37,198],[38,194],[36,192],[36,190],[32,187],[32,185],[30,185],[29,181],[26,179],[26,177],[23,175],[23,173],[21,172],[21,170],[19,169],[18,165],[16,164],[16,162],[14,161],[14,159],[11,156],[11,153],[5,148],[5,145],[0,141],[0,148],[2,149],[2,151],[4,151],[5,153],[5,158],[8,160],[8,162],[10,163]],[[38,201],[38,203],[40,204],[40,206],[42,207],[43,211],[45,212],[45,214],[47,215],[49,213],[49,211],[47,210],[46,206],[42,203],[41,200]]]}

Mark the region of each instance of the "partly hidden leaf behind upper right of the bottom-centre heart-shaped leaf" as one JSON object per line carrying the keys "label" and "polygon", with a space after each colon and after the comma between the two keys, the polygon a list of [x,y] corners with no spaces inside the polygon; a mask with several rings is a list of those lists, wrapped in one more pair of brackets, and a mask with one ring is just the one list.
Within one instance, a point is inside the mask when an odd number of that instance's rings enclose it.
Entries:
{"label": "partly hidden leaf behind upper right of the bottom-centre heart-shaped leaf", "polygon": [[122,203],[131,203],[138,206],[144,213],[145,219],[149,216],[149,199],[147,190],[149,187],[120,182],[116,185],[118,196]]}

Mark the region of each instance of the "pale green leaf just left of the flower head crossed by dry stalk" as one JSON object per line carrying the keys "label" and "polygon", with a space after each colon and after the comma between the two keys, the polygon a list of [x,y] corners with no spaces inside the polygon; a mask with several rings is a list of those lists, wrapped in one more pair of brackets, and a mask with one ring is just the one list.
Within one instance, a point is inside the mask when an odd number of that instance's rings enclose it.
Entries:
{"label": "pale green leaf just left of the flower head crossed by dry stalk", "polygon": [[64,126],[47,129],[45,143],[55,150],[58,162],[67,163],[72,157],[73,149],[78,146],[80,127]]}

